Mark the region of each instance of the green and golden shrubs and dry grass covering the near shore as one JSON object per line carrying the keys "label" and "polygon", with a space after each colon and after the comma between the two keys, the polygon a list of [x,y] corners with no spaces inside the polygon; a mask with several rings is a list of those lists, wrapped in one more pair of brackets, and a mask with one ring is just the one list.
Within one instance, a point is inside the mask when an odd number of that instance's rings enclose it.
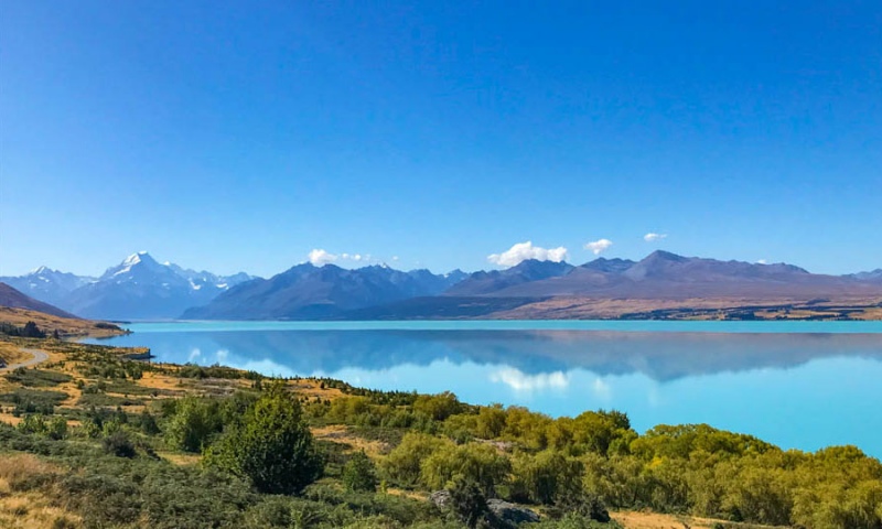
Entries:
{"label": "green and golden shrubs and dry grass covering the near shore", "polygon": [[616,411],[551,419],[3,339],[50,360],[0,381],[2,527],[504,528],[524,508],[536,529],[620,527],[616,509],[882,527],[882,464],[851,446],[782,451],[708,425],[641,435]]}

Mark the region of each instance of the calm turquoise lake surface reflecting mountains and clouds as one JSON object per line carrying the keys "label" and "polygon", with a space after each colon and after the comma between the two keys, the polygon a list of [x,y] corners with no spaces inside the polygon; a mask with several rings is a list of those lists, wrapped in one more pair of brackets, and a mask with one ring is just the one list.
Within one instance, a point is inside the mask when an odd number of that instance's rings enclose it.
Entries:
{"label": "calm turquoise lake surface reflecting mountains and clouds", "polygon": [[550,415],[617,409],[643,432],[708,423],[785,449],[882,456],[882,322],[139,323],[89,341],[376,389],[451,390]]}

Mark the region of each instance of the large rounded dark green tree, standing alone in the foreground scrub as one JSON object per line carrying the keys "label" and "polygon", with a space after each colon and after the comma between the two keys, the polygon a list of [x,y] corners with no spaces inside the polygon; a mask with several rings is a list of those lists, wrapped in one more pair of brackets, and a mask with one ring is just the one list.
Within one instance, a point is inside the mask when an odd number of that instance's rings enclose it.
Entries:
{"label": "large rounded dark green tree, standing alone in the foreground scrub", "polygon": [[300,402],[272,385],[206,453],[206,463],[250,479],[267,494],[298,494],[322,474]]}

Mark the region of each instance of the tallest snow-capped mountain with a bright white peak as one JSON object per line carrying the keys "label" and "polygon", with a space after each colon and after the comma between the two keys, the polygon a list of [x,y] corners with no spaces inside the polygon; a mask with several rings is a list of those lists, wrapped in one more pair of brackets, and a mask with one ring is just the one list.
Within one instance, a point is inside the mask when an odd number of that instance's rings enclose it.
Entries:
{"label": "tallest snow-capped mountain with a bright white peak", "polygon": [[97,280],[72,291],[60,303],[83,317],[104,320],[172,319],[191,306],[251,278],[223,277],[160,263],[150,253],[132,253]]}

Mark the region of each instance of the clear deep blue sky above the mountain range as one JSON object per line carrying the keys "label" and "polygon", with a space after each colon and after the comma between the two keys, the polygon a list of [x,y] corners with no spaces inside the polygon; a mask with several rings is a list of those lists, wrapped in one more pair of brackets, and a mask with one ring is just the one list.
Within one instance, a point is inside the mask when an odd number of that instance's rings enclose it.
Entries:
{"label": "clear deep blue sky above the mountain range", "polygon": [[0,3],[2,274],[602,238],[882,267],[882,2]]}

